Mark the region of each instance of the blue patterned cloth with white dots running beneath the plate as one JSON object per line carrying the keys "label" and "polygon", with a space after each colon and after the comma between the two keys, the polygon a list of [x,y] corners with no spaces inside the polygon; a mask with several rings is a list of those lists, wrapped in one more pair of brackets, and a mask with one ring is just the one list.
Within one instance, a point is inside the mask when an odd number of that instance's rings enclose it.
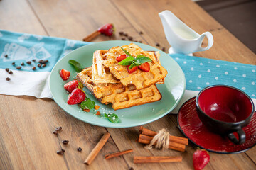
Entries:
{"label": "blue patterned cloth with white dots running beneath the plate", "polygon": [[[89,43],[0,30],[0,69],[6,68],[6,65],[10,66],[12,62],[21,63],[36,58],[49,60],[47,67],[36,69],[36,72],[50,72],[61,57]],[[256,98],[255,65],[177,54],[170,56],[183,69],[187,90],[201,91],[206,86],[226,84],[245,91],[251,98]],[[35,65],[33,62],[31,65],[25,64],[22,69],[26,72],[35,72],[31,69]]]}

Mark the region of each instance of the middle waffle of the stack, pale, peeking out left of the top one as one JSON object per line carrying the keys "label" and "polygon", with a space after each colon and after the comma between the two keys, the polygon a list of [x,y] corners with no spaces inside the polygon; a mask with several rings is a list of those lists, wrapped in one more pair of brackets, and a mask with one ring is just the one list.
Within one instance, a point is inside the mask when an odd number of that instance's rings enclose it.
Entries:
{"label": "middle waffle of the stack, pale, peeking out left of the top one", "polygon": [[119,80],[116,79],[112,73],[110,73],[110,70],[102,65],[106,52],[107,50],[97,50],[93,53],[92,79],[95,84],[119,83]]}

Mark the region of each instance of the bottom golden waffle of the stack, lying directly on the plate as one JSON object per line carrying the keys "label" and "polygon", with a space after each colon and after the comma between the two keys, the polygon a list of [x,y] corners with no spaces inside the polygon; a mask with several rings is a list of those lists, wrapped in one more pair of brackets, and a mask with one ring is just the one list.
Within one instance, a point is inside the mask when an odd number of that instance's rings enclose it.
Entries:
{"label": "bottom golden waffle of the stack, lying directly on the plate", "polygon": [[151,103],[161,99],[161,94],[155,84],[141,90],[137,90],[134,85],[123,86],[120,83],[93,84],[92,67],[83,69],[82,72],[78,73],[77,79],[81,81],[101,103],[112,103],[114,110]]}

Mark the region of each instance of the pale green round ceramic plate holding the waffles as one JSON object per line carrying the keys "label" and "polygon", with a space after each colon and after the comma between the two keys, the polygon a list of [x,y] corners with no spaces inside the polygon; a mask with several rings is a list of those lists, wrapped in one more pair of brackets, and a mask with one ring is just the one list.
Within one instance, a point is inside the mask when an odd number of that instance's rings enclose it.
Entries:
{"label": "pale green round ceramic plate holding the waffles", "polygon": [[181,67],[166,53],[151,47],[149,45],[144,45],[142,43],[134,42],[135,44],[142,47],[143,50],[153,50],[160,51],[161,54],[161,64],[167,69],[168,74],[164,84],[157,84],[157,88],[162,94],[160,101],[154,103],[147,103],[142,106],[134,106],[132,108],[124,108],[121,110],[114,111],[112,106],[104,105],[97,101],[97,99],[90,94],[90,91],[85,87],[85,93],[89,98],[91,98],[97,105],[100,106],[100,113],[116,113],[120,119],[119,123],[111,123],[106,118],[101,118],[100,116],[95,115],[96,111],[92,109],[90,112],[86,113],[80,109],[78,105],[68,105],[66,102],[68,100],[68,94],[63,88],[63,85],[71,81],[72,78],[68,81],[63,81],[60,78],[59,72],[60,69],[67,69],[71,72],[71,77],[75,77],[75,69],[68,63],[68,60],[73,59],[80,64],[82,67],[90,67],[92,65],[92,55],[95,50],[108,50],[111,47],[129,45],[129,41],[105,41],[97,42],[90,45],[85,45],[83,47],[70,52],[68,55],[63,57],[53,68],[50,73],[50,91],[53,95],[53,98],[58,105],[63,108],[64,111],[73,115],[75,118],[82,120],[86,123],[92,125],[99,125],[103,127],[110,128],[128,128],[138,125],[144,125],[150,123],[154,120],[158,120],[163,117],[170,111],[172,111],[178,102],[181,100],[183,93],[185,91],[186,81],[185,76],[181,70]]}

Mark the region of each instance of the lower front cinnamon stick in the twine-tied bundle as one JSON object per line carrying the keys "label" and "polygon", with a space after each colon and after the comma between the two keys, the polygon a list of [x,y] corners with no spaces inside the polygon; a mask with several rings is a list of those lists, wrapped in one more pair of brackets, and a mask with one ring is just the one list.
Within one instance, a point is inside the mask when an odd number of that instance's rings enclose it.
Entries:
{"label": "lower front cinnamon stick in the twine-tied bundle", "polygon": [[[143,143],[143,144],[149,144],[153,138],[154,137],[150,137],[150,136],[146,136],[146,135],[141,134],[141,135],[139,135],[138,142]],[[154,144],[154,145],[156,145],[156,144]],[[168,148],[169,149],[174,149],[176,151],[184,152],[185,149],[186,149],[186,145],[169,141],[169,147]]]}

